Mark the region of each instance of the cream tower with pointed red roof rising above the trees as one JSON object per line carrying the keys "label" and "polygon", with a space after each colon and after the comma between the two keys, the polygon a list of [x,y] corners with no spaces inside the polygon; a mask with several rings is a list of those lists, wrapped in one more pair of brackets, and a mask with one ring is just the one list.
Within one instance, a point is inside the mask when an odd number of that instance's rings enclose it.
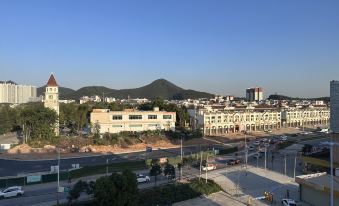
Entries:
{"label": "cream tower with pointed red roof rising above the trees", "polygon": [[[59,86],[51,74],[45,92],[45,107],[55,110],[59,116]],[[59,135],[59,122],[55,125],[55,134]]]}

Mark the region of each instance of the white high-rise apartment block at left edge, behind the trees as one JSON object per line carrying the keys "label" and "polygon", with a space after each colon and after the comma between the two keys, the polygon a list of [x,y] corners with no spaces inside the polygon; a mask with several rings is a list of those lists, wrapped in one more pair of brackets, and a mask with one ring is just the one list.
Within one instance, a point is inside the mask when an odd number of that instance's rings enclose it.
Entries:
{"label": "white high-rise apartment block at left edge, behind the trees", "polygon": [[17,85],[14,82],[0,82],[0,103],[22,104],[37,97],[37,88]]}

